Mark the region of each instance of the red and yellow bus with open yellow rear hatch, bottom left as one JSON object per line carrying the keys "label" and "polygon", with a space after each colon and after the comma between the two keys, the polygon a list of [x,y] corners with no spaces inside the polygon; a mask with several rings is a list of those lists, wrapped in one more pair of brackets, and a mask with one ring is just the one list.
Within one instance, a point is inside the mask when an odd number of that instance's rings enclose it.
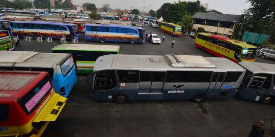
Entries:
{"label": "red and yellow bus with open yellow rear hatch, bottom left", "polygon": [[0,136],[41,136],[67,98],[54,92],[47,72],[0,71]]}

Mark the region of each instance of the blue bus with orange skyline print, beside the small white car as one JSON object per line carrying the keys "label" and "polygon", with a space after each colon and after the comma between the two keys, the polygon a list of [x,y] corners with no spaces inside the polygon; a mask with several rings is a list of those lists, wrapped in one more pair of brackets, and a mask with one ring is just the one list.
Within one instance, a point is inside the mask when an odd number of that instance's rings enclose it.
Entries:
{"label": "blue bus with orange skyline print, beside the small white car", "polygon": [[130,42],[144,43],[145,30],[142,27],[111,25],[111,24],[86,24],[85,39],[89,41]]}

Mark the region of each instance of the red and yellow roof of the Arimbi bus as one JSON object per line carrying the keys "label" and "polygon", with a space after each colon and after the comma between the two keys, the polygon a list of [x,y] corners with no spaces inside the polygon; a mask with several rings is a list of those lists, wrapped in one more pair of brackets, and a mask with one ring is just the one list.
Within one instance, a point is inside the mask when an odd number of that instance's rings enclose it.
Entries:
{"label": "red and yellow roof of the Arimbi bus", "polygon": [[231,39],[231,38],[227,38],[227,37],[224,37],[224,36],[219,36],[219,35],[211,35],[209,33],[204,33],[204,32],[200,32],[201,35],[204,35],[204,36],[208,36],[208,37],[211,37],[213,39],[218,39],[218,40],[222,40],[222,41],[226,41],[228,43],[232,43],[234,45],[238,45],[242,48],[256,48],[255,46],[253,45],[250,45],[250,44],[246,44],[244,42],[241,42],[241,41],[238,41],[238,40],[234,40],[234,39]]}

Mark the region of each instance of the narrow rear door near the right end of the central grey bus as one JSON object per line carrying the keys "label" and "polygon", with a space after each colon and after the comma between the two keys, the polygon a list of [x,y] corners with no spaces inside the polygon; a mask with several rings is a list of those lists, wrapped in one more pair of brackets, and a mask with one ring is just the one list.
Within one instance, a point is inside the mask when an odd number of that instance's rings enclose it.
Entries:
{"label": "narrow rear door near the right end of the central grey bus", "polygon": [[220,92],[220,89],[223,85],[226,72],[213,72],[212,79],[209,84],[208,98],[216,98]]}

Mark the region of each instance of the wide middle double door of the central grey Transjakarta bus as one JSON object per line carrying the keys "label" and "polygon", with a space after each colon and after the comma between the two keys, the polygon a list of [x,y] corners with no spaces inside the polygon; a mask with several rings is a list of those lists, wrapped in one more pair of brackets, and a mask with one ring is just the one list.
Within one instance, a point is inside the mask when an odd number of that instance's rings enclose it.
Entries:
{"label": "wide middle double door of the central grey Transjakarta bus", "polygon": [[162,100],[166,72],[140,71],[139,93],[136,100]]}

